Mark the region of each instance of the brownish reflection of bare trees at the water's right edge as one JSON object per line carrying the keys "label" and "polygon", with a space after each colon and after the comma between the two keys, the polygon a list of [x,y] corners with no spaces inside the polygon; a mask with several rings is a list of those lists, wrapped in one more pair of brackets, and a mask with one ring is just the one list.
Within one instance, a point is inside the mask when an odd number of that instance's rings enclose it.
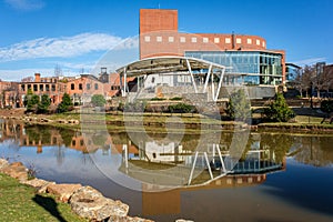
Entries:
{"label": "brownish reflection of bare trees at the water's right edge", "polygon": [[332,143],[332,137],[300,137],[294,159],[316,167],[330,165],[333,163]]}

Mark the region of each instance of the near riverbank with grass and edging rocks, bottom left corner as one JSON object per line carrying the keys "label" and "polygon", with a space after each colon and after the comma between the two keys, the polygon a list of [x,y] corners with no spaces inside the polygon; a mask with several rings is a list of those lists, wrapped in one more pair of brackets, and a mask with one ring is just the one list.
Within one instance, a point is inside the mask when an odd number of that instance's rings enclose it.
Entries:
{"label": "near riverbank with grass and edging rocks, bottom left corner", "polygon": [[91,186],[57,184],[30,173],[20,162],[0,159],[0,221],[152,222],[129,216],[129,205]]}

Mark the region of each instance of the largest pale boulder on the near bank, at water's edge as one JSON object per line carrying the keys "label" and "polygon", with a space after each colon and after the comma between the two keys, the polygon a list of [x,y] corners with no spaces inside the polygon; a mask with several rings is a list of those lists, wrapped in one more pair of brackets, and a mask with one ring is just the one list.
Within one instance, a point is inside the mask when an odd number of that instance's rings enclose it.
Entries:
{"label": "largest pale boulder on the near bank, at water's edge", "polygon": [[104,198],[91,186],[82,186],[70,199],[72,210],[91,221],[102,221],[110,216],[127,216],[129,205]]}

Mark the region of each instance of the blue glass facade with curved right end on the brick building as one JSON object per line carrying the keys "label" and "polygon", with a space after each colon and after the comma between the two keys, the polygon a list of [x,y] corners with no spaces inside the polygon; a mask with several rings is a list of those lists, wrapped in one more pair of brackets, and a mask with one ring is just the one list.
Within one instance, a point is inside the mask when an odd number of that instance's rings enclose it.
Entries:
{"label": "blue glass facade with curved right end on the brick building", "polygon": [[226,67],[226,84],[282,83],[282,56],[259,51],[186,51],[185,57],[198,58]]}

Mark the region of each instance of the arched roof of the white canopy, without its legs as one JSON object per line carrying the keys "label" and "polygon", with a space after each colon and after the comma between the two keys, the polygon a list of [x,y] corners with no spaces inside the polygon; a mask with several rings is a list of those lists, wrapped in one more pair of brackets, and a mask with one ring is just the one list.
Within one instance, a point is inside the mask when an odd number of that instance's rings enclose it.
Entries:
{"label": "arched roof of the white canopy, without its legs", "polygon": [[213,63],[210,61],[190,58],[190,57],[153,57],[142,59],[124,67],[117,69],[119,74],[127,73],[128,77],[138,77],[143,74],[172,73],[189,71],[189,65],[192,71],[200,71],[202,69],[225,69],[224,65]]}

